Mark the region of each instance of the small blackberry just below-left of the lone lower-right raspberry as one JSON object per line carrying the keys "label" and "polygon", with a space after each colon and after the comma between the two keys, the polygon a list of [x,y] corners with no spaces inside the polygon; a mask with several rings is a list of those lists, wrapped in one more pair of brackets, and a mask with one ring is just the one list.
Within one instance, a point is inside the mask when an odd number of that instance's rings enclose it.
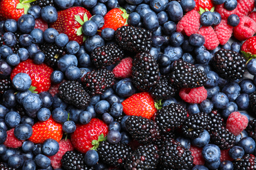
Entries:
{"label": "small blackberry just below-left of the lone lower-right raspberry", "polygon": [[218,127],[217,129],[211,131],[211,143],[219,146],[221,150],[227,150],[234,146],[236,141],[236,136],[228,131],[225,127]]}

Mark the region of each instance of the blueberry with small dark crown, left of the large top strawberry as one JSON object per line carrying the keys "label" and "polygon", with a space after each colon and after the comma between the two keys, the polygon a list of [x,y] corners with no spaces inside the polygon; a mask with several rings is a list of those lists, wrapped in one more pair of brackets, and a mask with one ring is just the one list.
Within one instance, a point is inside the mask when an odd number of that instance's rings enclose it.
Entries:
{"label": "blueberry with small dark crown, left of the large top strawberry", "polygon": [[58,19],[58,11],[53,6],[47,5],[41,10],[41,17],[47,23],[56,22]]}

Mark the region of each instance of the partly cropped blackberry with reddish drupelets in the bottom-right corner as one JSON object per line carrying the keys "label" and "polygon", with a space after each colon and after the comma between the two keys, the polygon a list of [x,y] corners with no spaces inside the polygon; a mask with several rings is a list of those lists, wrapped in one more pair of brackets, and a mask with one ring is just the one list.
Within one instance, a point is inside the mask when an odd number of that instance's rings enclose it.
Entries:
{"label": "partly cropped blackberry with reddish drupelets in the bottom-right corner", "polygon": [[256,159],[253,154],[245,154],[242,159],[234,161],[236,170],[253,170],[256,169]]}

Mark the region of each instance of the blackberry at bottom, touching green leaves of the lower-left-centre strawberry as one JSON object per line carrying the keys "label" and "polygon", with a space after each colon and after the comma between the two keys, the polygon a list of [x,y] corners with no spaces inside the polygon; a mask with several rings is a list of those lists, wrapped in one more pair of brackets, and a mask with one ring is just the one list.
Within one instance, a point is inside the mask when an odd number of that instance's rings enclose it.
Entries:
{"label": "blackberry at bottom, touching green leaves of the lower-left-centre strawberry", "polygon": [[100,160],[114,167],[123,167],[131,154],[130,146],[122,143],[110,144],[107,141],[100,142],[97,150]]}

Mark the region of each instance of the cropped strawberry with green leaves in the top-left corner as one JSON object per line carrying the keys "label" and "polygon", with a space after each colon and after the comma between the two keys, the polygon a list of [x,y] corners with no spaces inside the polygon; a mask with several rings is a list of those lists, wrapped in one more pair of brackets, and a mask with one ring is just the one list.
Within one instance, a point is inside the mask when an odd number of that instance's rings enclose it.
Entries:
{"label": "cropped strawberry with green leaves in the top-left corner", "polygon": [[2,0],[0,3],[0,20],[18,18],[28,13],[30,3],[36,0]]}

